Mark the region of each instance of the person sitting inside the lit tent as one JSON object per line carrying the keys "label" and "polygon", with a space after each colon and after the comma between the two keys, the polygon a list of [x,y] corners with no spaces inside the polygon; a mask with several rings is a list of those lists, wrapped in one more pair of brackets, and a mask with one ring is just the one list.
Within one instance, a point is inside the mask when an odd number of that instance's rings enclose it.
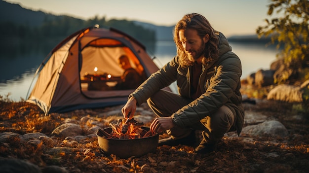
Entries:
{"label": "person sitting inside the lit tent", "polygon": [[130,60],[126,55],[118,59],[119,66],[124,69],[121,81],[116,85],[117,89],[136,89],[143,81],[141,75],[132,68]]}

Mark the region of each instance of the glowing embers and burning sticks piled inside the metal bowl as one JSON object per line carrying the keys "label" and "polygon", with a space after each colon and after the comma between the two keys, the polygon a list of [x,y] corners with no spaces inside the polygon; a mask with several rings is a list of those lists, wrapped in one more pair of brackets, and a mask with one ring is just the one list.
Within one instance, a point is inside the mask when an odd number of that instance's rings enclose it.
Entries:
{"label": "glowing embers and burning sticks piled inside the metal bowl", "polygon": [[135,121],[133,118],[128,120],[125,124],[125,120],[118,120],[115,124],[111,122],[110,127],[112,128],[112,133],[108,133],[102,129],[98,130],[98,135],[106,137],[106,138],[118,138],[118,139],[137,139],[137,138],[146,138],[154,136],[155,133],[150,131],[146,131],[142,129],[144,123],[139,123]]}

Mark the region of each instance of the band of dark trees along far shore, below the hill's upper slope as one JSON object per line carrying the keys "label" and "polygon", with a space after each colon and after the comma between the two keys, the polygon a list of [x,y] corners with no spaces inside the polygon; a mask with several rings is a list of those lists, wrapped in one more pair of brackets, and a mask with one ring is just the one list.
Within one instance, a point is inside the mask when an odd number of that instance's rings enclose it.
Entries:
{"label": "band of dark trees along far shore, below the hill's upper slope", "polygon": [[[37,41],[61,41],[65,37],[77,32],[80,29],[100,25],[103,28],[115,28],[142,43],[155,42],[155,32],[136,25],[127,20],[106,20],[105,17],[95,16],[93,19],[81,20],[70,16],[45,16],[39,26],[28,26],[15,24],[13,22],[0,23],[0,36],[2,41],[27,40],[29,42]],[[38,42],[39,43],[39,42]],[[3,44],[3,42],[2,42]]]}

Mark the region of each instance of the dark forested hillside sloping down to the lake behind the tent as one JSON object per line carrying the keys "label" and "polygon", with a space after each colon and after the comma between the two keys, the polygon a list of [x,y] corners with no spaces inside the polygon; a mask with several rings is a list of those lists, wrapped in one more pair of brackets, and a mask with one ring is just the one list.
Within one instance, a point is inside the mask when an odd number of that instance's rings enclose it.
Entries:
{"label": "dark forested hillside sloping down to the lake behind the tent", "polygon": [[[155,31],[146,29],[128,20],[106,20],[94,16],[88,20],[67,15],[53,15],[42,11],[25,9],[19,4],[0,1],[0,50],[12,47],[54,45],[73,33],[87,27],[100,25],[100,28],[115,28],[143,44],[156,41]],[[42,45],[42,41],[43,45]]]}

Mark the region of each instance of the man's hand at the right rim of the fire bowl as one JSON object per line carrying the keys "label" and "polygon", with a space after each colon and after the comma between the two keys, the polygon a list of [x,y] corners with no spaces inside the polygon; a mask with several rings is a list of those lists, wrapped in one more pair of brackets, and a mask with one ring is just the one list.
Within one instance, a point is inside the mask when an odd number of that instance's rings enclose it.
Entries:
{"label": "man's hand at the right rim of the fire bowl", "polygon": [[175,127],[172,117],[160,117],[155,118],[153,123],[150,125],[150,130],[158,134],[163,134],[164,131]]}

